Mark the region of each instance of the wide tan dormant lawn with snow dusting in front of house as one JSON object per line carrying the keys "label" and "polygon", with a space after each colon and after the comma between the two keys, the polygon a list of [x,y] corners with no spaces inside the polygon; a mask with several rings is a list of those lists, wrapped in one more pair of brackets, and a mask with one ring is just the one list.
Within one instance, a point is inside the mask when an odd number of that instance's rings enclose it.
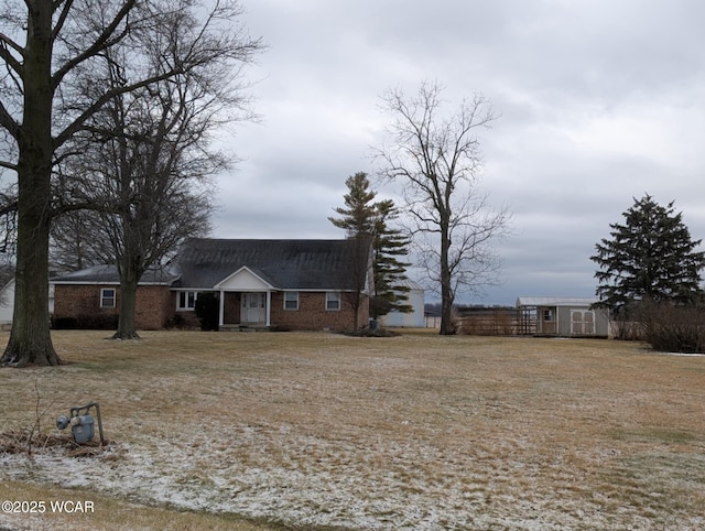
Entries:
{"label": "wide tan dormant lawn with snow dusting in front of house", "polygon": [[[111,444],[0,453],[0,529],[705,528],[705,357],[607,340],[56,332],[2,429],[100,403]],[[0,336],[7,342],[7,335]]]}

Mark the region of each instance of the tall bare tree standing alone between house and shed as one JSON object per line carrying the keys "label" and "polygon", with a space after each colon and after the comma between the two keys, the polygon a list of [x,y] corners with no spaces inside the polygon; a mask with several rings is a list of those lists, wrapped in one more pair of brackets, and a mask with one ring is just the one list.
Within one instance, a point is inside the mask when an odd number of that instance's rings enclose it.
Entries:
{"label": "tall bare tree standing alone between house and shed", "polygon": [[495,121],[491,106],[476,96],[444,117],[441,93],[431,83],[411,98],[401,89],[386,93],[392,142],[376,155],[381,177],[403,184],[404,210],[412,219],[422,266],[440,285],[441,334],[454,334],[455,295],[495,281],[500,263],[490,243],[506,234],[510,214],[506,207],[494,209],[478,191],[476,133]]}

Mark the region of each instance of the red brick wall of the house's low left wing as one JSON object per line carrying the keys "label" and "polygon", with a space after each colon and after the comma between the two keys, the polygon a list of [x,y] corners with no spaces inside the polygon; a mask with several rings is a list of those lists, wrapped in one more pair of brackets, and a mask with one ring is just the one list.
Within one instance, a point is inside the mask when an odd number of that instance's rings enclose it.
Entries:
{"label": "red brick wall of the house's low left wing", "polygon": [[[113,308],[100,307],[100,290],[116,290]],[[176,297],[164,285],[140,285],[137,290],[135,324],[140,329],[160,329],[173,317]],[[54,318],[120,313],[120,288],[117,285],[57,284],[54,291]]]}

